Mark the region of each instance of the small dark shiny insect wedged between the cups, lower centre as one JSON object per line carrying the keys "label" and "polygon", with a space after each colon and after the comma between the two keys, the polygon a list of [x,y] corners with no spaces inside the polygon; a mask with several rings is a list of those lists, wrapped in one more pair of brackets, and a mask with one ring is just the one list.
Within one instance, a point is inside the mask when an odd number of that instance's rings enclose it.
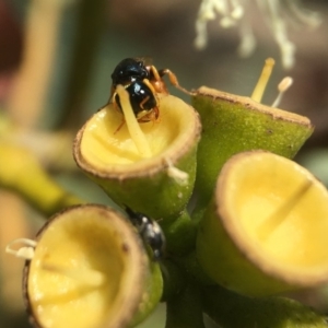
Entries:
{"label": "small dark shiny insect wedged between the cups, lower centre", "polygon": [[143,242],[149,245],[153,251],[153,260],[157,261],[163,257],[165,248],[165,236],[160,224],[147,215],[133,212],[126,207],[131,223],[137,227]]}

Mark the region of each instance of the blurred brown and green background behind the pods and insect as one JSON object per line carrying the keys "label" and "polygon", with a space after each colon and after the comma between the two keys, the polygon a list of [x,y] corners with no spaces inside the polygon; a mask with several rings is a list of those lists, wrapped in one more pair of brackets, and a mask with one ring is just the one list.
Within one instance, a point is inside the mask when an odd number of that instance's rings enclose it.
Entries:
{"label": "blurred brown and green background behind the pods and insect", "polygon": [[[195,48],[200,0],[0,0],[0,139],[28,148],[68,190],[108,203],[77,169],[71,143],[83,122],[108,102],[110,74],[121,59],[150,57],[188,90],[207,85],[248,96],[265,59],[272,57],[276,67],[262,103],[274,101],[284,77],[294,79],[280,107],[309,117],[316,126],[296,160],[328,185],[328,2],[291,1],[304,16],[311,16],[307,10],[320,13],[321,23],[308,28],[280,1],[281,20],[296,47],[289,70],[282,66],[268,12],[258,7],[267,1],[241,2],[257,39],[247,58],[237,51],[241,25],[223,28],[219,14],[208,22],[207,47]],[[12,128],[3,128],[8,126]],[[0,165],[7,165],[5,159],[0,157]],[[30,327],[21,291],[23,261],[4,247],[12,239],[33,237],[43,222],[17,195],[0,187],[1,328]],[[325,289],[297,297],[328,313]],[[164,327],[163,318],[160,306],[142,327]]]}

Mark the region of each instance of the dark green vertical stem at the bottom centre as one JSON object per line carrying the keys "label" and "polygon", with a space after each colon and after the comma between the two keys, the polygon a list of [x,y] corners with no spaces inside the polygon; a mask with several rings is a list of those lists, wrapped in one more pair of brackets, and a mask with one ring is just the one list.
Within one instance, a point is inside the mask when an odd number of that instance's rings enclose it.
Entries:
{"label": "dark green vertical stem at the bottom centre", "polygon": [[166,305],[165,328],[204,328],[198,285],[190,282]]}

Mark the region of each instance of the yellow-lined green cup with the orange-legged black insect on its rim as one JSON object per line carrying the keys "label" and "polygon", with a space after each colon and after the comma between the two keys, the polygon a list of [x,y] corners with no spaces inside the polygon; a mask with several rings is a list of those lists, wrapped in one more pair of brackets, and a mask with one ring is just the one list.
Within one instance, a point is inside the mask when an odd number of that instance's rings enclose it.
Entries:
{"label": "yellow-lined green cup with the orange-legged black insect on its rim", "polygon": [[[129,101],[121,105],[129,107]],[[200,121],[192,107],[174,96],[160,99],[160,120],[131,128],[108,104],[79,131],[74,159],[118,204],[153,218],[175,218],[194,189]],[[138,131],[137,131],[138,129]],[[140,138],[139,138],[140,137]]]}

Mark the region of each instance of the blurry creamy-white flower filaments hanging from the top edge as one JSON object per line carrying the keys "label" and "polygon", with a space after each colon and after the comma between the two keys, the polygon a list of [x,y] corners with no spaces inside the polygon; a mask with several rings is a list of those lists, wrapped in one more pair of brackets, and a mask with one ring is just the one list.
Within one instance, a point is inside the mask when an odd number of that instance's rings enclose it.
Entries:
{"label": "blurry creamy-white flower filaments hanging from the top edge", "polygon": [[[268,24],[279,45],[283,67],[291,68],[295,61],[295,46],[288,37],[288,23],[296,21],[316,27],[321,21],[319,15],[303,9],[298,0],[254,0],[254,2],[259,7],[263,21]],[[256,47],[256,38],[249,19],[251,15],[247,15],[247,10],[251,11],[249,0],[202,0],[196,20],[195,46],[198,49],[207,46],[207,24],[218,16],[221,27],[238,27],[241,34],[239,55],[243,57],[251,55]]]}

